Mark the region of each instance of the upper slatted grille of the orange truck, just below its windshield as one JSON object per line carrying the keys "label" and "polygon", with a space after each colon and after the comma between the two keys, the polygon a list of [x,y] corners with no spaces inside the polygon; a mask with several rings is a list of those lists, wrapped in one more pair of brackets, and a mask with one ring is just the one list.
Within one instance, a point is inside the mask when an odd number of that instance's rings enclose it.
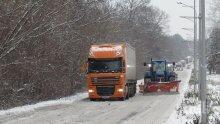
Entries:
{"label": "upper slatted grille of the orange truck, just below its windshield", "polygon": [[119,78],[118,77],[99,77],[99,78],[93,78],[92,82],[94,84],[117,84],[119,83]]}

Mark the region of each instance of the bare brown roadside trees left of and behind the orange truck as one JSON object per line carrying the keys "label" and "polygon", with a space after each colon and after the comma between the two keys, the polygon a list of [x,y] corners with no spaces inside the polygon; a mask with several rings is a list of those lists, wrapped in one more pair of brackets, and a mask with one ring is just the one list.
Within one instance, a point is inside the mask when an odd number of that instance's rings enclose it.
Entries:
{"label": "bare brown roadside trees left of and behind the orange truck", "polygon": [[0,109],[85,88],[80,70],[93,43],[134,46],[139,78],[151,57],[187,56],[188,41],[168,36],[167,22],[150,0],[0,0]]}

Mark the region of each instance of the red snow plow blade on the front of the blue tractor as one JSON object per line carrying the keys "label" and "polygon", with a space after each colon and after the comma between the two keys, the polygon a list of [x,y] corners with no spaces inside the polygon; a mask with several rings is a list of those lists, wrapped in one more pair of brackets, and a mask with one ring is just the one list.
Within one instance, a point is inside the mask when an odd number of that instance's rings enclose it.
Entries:
{"label": "red snow plow blade on the front of the blue tractor", "polygon": [[139,85],[140,93],[146,92],[179,92],[179,83],[181,81],[171,82],[148,82]]}

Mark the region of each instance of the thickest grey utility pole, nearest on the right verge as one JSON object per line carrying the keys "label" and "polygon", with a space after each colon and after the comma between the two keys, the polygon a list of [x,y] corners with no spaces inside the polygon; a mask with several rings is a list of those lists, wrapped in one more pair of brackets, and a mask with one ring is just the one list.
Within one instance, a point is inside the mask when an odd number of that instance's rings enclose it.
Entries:
{"label": "thickest grey utility pole, nearest on the right verge", "polygon": [[201,97],[201,124],[207,124],[207,101],[206,101],[206,37],[205,37],[205,0],[199,1],[199,41],[200,41],[200,58],[199,58],[199,83]]}

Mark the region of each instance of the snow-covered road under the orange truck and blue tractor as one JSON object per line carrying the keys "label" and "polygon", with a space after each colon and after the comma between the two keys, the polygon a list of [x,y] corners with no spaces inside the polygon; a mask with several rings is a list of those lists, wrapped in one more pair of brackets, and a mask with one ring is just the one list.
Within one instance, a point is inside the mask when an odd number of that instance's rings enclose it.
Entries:
{"label": "snow-covered road under the orange truck and blue tractor", "polygon": [[[178,72],[180,92],[190,79],[191,70]],[[3,124],[162,124],[179,101],[180,94],[154,93],[126,101],[78,99],[71,104],[55,104],[19,114],[0,115]]]}

